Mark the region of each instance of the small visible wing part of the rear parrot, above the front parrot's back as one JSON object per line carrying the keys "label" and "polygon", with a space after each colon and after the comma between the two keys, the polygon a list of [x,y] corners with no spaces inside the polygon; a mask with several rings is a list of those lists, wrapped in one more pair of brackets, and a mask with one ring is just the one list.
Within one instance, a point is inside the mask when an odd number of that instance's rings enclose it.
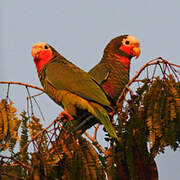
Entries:
{"label": "small visible wing part of the rear parrot, above the front parrot's back", "polygon": [[110,70],[107,67],[107,63],[99,63],[88,73],[102,85],[108,79]]}

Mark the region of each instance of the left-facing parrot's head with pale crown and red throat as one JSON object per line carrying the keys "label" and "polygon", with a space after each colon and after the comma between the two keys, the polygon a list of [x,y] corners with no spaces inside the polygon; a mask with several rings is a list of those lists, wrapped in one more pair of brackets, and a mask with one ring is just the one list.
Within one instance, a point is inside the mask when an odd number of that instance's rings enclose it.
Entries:
{"label": "left-facing parrot's head with pale crown and red throat", "polygon": [[34,63],[37,68],[38,75],[41,71],[41,68],[51,61],[57,54],[56,50],[52,48],[49,44],[44,42],[38,42],[32,47],[32,56]]}

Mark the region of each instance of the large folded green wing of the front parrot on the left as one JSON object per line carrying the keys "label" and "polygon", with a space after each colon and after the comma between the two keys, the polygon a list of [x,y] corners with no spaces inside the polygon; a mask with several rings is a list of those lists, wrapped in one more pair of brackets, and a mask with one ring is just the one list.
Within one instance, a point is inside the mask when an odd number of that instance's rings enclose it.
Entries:
{"label": "large folded green wing of the front parrot on the left", "polygon": [[56,57],[47,63],[45,74],[48,82],[57,90],[67,90],[84,99],[110,106],[103,90],[90,75],[67,60]]}

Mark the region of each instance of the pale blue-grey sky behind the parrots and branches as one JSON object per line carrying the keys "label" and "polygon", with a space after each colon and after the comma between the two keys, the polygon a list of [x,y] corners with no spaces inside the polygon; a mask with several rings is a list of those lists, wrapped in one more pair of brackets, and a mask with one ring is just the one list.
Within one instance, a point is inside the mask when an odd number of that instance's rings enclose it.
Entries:
{"label": "pale blue-grey sky behind the parrots and branches", "polygon": [[[31,57],[31,47],[38,41],[51,44],[74,64],[89,70],[112,38],[131,34],[140,40],[142,49],[140,58],[132,60],[131,77],[155,57],[179,64],[179,0],[2,0],[0,13],[0,80],[40,86]],[[19,111],[24,92],[23,88],[10,92]],[[0,91],[0,98],[4,96]],[[49,119],[59,113],[45,95],[39,100]],[[167,150],[156,158],[160,180],[180,179],[179,159],[179,150]]]}

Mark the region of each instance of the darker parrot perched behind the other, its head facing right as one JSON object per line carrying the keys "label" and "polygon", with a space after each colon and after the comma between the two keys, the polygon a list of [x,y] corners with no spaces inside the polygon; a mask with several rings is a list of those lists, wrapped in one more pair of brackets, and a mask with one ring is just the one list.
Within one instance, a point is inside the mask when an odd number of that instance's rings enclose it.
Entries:
{"label": "darker parrot perched behind the other, its head facing right", "polygon": [[102,86],[116,104],[125,85],[129,82],[131,58],[140,55],[140,43],[134,36],[122,35],[112,39],[104,49],[101,61],[89,74]]}

